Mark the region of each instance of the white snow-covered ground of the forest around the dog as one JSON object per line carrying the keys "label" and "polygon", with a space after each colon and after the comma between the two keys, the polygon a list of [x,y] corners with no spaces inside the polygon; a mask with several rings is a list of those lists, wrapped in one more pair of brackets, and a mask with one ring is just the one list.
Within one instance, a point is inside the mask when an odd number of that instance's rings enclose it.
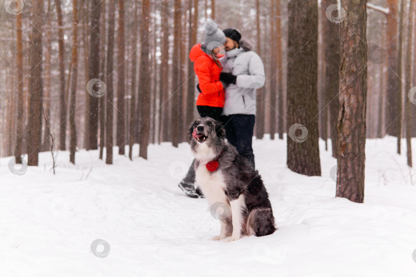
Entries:
{"label": "white snow-covered ground of the forest around the dog", "polygon": [[365,203],[356,204],[334,197],[336,161],[323,141],[322,177],[307,177],[286,168],[286,140],[255,140],[278,230],[232,243],[211,240],[220,225],[206,200],[177,187],[192,161],[186,143],[150,145],[147,161],[115,154],[111,166],[98,151],[77,152],[75,166],[59,152],[56,175],[50,153],[23,175],[5,157],[0,276],[414,277],[416,175],[395,145],[367,141]]}

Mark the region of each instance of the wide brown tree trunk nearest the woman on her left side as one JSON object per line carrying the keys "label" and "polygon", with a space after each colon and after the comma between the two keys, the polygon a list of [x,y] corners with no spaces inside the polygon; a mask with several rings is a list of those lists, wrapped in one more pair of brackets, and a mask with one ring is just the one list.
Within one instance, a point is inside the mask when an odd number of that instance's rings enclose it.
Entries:
{"label": "wide brown tree trunk nearest the woman on her left side", "polygon": [[[140,29],[140,149],[139,156],[147,160],[147,146],[149,144],[150,128],[150,72],[149,72],[149,21],[150,6],[149,0],[142,1],[142,21]],[[179,48],[179,47],[177,47]]]}

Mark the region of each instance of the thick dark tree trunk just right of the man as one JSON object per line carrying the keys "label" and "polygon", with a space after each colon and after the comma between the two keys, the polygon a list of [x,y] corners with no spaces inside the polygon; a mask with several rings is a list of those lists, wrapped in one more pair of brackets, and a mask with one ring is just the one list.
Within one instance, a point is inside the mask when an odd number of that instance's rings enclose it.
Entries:
{"label": "thick dark tree trunk just right of the man", "polygon": [[317,106],[318,6],[314,0],[292,0],[288,4],[288,11],[287,164],[294,172],[320,176]]}

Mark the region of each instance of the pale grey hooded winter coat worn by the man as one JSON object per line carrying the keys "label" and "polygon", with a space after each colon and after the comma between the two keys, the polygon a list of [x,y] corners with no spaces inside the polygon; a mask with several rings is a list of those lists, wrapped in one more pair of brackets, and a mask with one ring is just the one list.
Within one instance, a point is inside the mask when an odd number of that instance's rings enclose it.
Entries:
{"label": "pale grey hooded winter coat worn by the man", "polygon": [[256,89],[264,86],[266,75],[259,55],[251,45],[240,41],[240,48],[225,53],[221,59],[222,72],[237,76],[235,85],[225,88],[225,105],[222,114],[256,114]]}

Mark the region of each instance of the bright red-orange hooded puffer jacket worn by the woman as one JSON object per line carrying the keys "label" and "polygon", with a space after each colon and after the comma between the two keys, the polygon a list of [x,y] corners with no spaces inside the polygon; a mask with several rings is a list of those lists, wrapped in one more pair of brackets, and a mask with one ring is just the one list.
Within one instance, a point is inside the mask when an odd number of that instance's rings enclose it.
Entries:
{"label": "bright red-orange hooded puffer jacket worn by the woman", "polygon": [[[224,107],[225,90],[219,81],[222,68],[208,54],[201,50],[201,45],[196,44],[189,54],[191,62],[194,63],[194,71],[198,76],[199,93],[197,106]],[[217,63],[218,64],[217,64]]]}

